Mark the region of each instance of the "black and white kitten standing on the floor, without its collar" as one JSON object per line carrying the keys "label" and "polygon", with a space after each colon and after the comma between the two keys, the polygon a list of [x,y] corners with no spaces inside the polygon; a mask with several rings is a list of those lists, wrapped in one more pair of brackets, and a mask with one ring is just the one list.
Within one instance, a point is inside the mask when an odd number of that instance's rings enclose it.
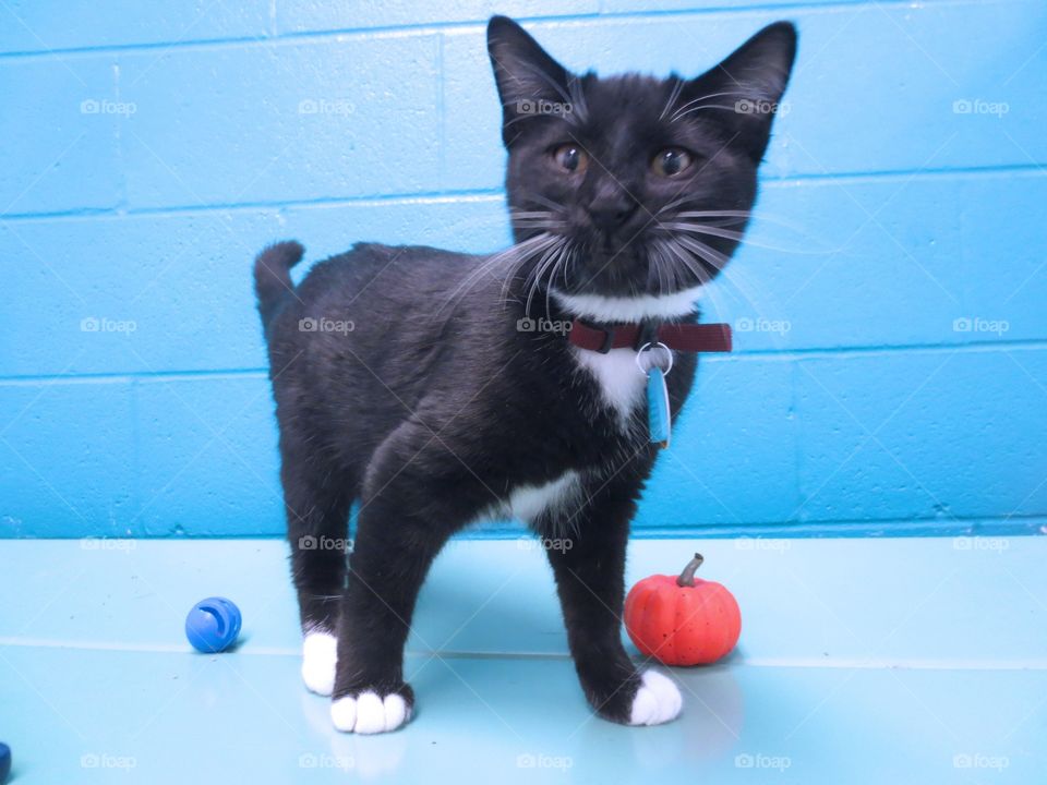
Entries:
{"label": "black and white kitten standing on the floor, without its collar", "polygon": [[[696,78],[576,76],[495,16],[517,244],[493,256],[357,244],[297,287],[301,245],[258,256],[302,675],[334,697],[339,730],[410,717],[419,589],[452,534],[496,515],[571,539],[547,555],[592,708],[633,725],[678,714],[674,684],[622,644],[629,521],[658,449],[636,351],[581,349],[543,326],[697,319],[746,227],[795,47],[778,23]],[[674,359],[675,416],[696,359]],[[347,570],[330,544],[354,500]]]}

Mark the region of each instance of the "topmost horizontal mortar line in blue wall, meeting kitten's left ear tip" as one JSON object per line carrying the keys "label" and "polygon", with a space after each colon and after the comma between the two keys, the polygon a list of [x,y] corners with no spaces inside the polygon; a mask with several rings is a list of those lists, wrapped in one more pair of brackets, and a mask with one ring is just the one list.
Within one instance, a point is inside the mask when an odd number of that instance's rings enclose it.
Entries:
{"label": "topmost horizontal mortar line in blue wall, meeting kitten's left ear tip", "polygon": [[[936,8],[978,5],[982,0],[937,0]],[[1006,1],[1006,0],[1003,0]],[[797,11],[813,11],[819,13],[840,13],[849,10],[857,10],[868,7],[868,0],[835,0],[834,2],[817,2],[799,0],[791,3],[755,2],[750,5],[710,5],[701,9],[657,9],[657,10],[637,10],[637,11],[617,11],[617,12],[589,12],[570,14],[539,14],[533,16],[516,16],[516,21],[524,24],[557,24],[557,23],[578,23],[578,22],[629,22],[633,20],[675,20],[675,19],[702,19],[706,16],[744,16],[758,15],[766,13],[789,14]],[[875,5],[884,9],[912,10],[911,0],[876,0]],[[141,44],[108,44],[97,46],[67,47],[62,49],[48,50],[17,50],[0,52],[0,61],[3,60],[29,60],[29,59],[50,59],[56,56],[70,55],[104,55],[118,52],[146,52],[155,49],[165,50],[193,50],[206,48],[222,48],[230,46],[260,46],[272,45],[274,43],[300,43],[311,40],[328,40],[339,38],[392,38],[408,37],[414,35],[436,34],[441,32],[479,32],[484,28],[486,19],[462,20],[453,22],[426,22],[420,24],[402,25],[376,25],[373,27],[335,27],[318,31],[301,31],[288,33],[268,33],[269,24],[266,23],[266,32],[254,35],[239,36],[217,36],[214,38],[197,38],[182,41],[148,41]]]}

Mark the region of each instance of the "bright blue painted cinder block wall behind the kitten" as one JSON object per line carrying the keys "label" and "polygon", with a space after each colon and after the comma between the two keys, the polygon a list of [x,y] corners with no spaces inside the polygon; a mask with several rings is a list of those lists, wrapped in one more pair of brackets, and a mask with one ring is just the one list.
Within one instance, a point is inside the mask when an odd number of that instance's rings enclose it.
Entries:
{"label": "bright blue painted cinder block wall behind the kitten", "polygon": [[[0,3],[0,533],[278,533],[250,262],[508,241],[484,22],[695,74],[801,31],[638,526],[1047,523],[1042,0]],[[314,109],[315,111],[310,111]]]}

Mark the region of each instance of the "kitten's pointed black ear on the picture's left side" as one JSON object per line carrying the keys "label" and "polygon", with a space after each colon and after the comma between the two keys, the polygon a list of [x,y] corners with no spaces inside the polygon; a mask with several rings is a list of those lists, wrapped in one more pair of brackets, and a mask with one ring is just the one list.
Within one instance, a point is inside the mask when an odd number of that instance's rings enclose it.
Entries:
{"label": "kitten's pointed black ear on the picture's left side", "polygon": [[488,53],[502,98],[502,137],[506,145],[516,136],[509,128],[514,120],[540,113],[564,113],[565,105],[569,113],[573,76],[516,22],[507,16],[491,17]]}

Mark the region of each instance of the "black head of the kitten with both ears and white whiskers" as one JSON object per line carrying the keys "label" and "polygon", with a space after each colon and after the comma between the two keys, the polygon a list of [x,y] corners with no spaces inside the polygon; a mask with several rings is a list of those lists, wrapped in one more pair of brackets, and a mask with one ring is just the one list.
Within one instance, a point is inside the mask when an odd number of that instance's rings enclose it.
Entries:
{"label": "black head of the kitten with both ears and white whiskers", "polygon": [[531,287],[634,297],[717,276],[756,200],[793,25],[763,28],[694,78],[575,75],[504,16],[488,51]]}

